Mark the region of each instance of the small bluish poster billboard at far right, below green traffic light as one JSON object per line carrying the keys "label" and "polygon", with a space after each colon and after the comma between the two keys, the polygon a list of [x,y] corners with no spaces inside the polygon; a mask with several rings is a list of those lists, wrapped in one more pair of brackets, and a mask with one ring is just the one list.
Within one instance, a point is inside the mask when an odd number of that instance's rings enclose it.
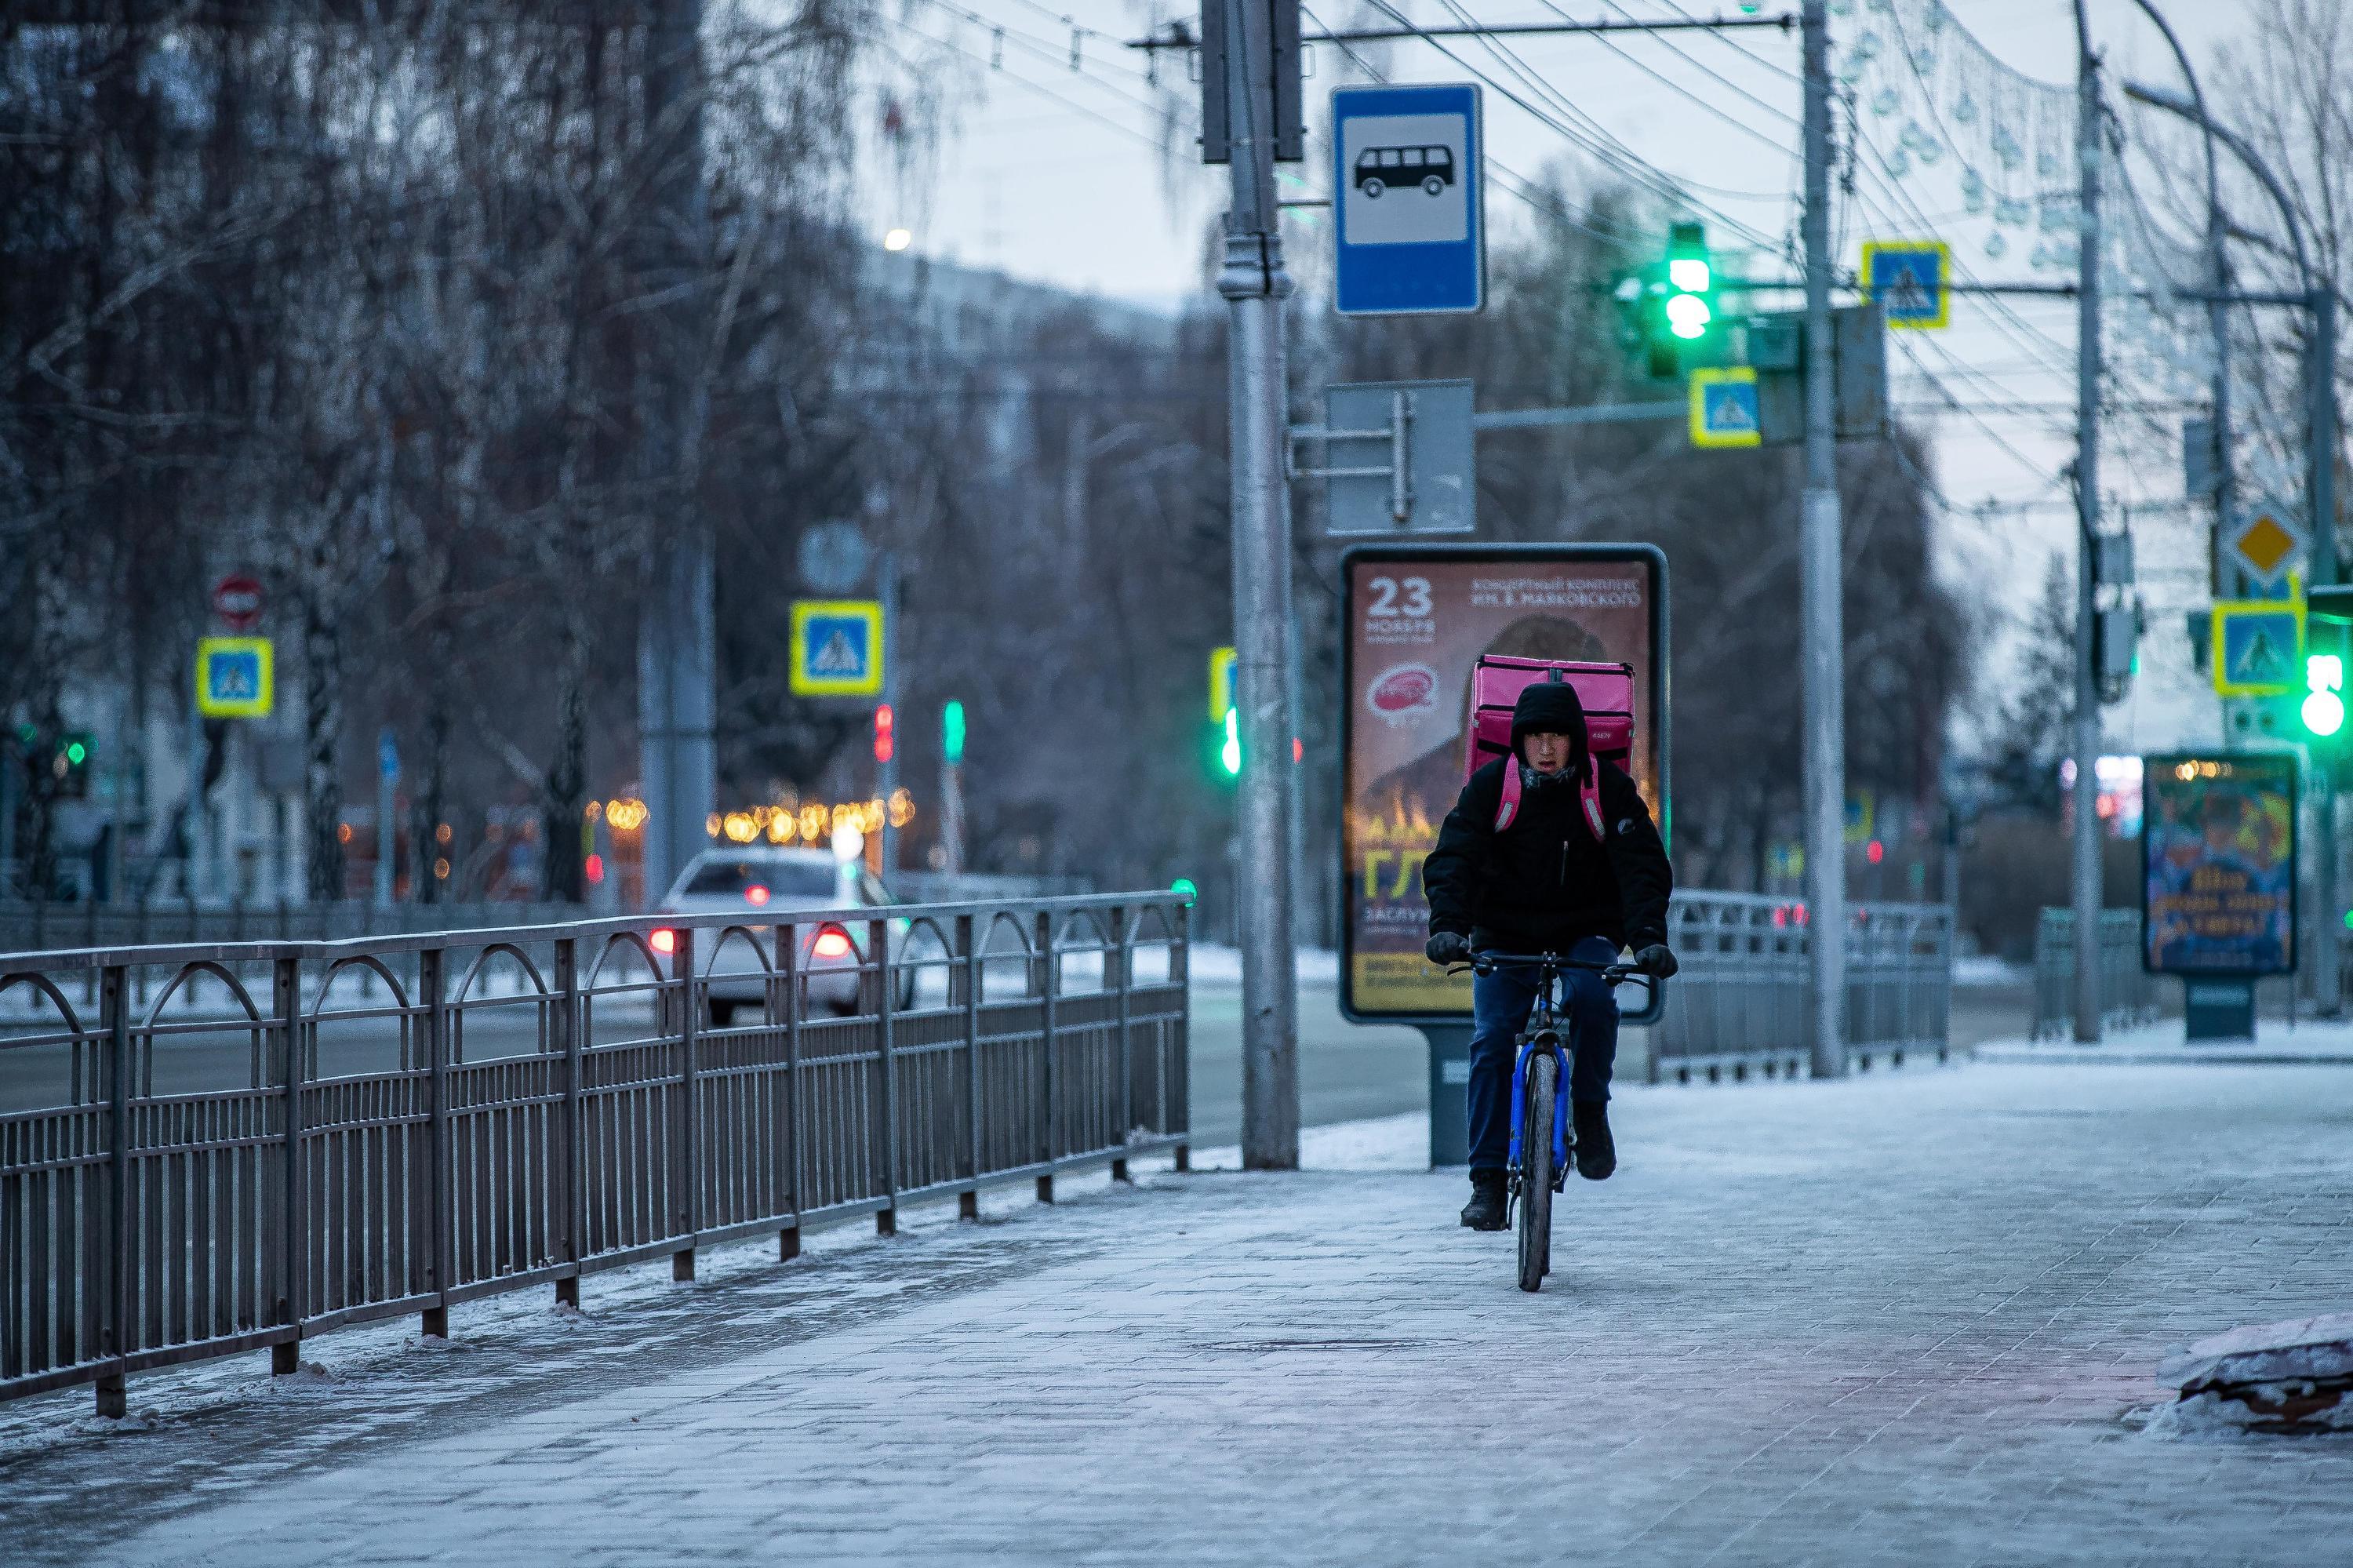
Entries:
{"label": "small bluish poster billboard at far right, below green traffic light", "polygon": [[2153,756],[2141,768],[2141,963],[2153,975],[2297,968],[2297,758]]}

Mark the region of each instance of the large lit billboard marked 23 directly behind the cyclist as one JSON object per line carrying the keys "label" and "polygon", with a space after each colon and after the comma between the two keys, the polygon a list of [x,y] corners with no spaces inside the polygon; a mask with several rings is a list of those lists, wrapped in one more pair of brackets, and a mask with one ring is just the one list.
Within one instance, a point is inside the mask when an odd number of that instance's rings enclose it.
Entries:
{"label": "large lit billboard marked 23 directly behind the cyclist", "polygon": [[1647,544],[1367,544],[1341,556],[1341,1010],[1459,1024],[1421,956],[1421,862],[1464,784],[1480,655],[1626,662],[1633,782],[1668,831],[1666,556]]}

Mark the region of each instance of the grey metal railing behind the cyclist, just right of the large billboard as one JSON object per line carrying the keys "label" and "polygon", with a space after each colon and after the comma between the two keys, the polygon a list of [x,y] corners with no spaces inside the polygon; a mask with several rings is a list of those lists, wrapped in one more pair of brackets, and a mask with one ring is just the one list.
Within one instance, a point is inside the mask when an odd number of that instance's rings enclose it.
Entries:
{"label": "grey metal railing behind the cyclist, just right of the large billboard", "polygon": [[[1652,1081],[1805,1076],[1805,904],[1753,892],[1678,892],[1668,944],[1682,963],[1652,1026]],[[1847,906],[1847,1059],[1901,1067],[1948,1055],[1953,911],[1944,904]]]}

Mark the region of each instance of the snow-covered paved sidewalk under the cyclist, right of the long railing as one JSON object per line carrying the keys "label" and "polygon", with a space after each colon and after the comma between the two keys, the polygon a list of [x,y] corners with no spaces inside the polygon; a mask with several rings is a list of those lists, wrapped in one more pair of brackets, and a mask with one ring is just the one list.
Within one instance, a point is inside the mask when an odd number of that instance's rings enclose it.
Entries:
{"label": "snow-covered paved sidewalk under the cyclist, right of the long railing", "polygon": [[2348,1076],[1628,1090],[1555,1276],[1419,1118],[0,1408],[12,1563],[2308,1563],[2353,1439],[2151,1427],[2353,1302]]}

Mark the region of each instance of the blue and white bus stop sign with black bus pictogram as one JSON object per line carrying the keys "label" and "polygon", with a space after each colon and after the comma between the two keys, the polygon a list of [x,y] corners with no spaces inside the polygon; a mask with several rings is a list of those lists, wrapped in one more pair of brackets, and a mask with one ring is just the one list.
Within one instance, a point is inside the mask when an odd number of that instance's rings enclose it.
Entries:
{"label": "blue and white bus stop sign with black bus pictogram", "polygon": [[1471,82],[1332,92],[1341,315],[1485,304],[1485,151],[1480,89]]}

